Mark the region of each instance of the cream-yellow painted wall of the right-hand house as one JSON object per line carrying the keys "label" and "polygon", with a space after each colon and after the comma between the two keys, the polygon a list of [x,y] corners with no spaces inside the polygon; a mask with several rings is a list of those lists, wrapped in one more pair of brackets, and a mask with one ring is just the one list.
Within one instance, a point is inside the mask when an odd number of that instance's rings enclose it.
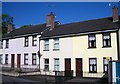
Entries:
{"label": "cream-yellow painted wall of the right-hand house", "polygon": [[[111,46],[102,48],[102,34],[96,34],[96,48],[88,48],[88,35],[73,37],[73,69],[75,70],[75,58],[83,59],[83,76],[103,76],[103,57],[112,57],[118,60],[116,33],[111,33]],[[97,58],[97,73],[89,73],[89,58]],[[75,70],[76,71],[76,70]]]}

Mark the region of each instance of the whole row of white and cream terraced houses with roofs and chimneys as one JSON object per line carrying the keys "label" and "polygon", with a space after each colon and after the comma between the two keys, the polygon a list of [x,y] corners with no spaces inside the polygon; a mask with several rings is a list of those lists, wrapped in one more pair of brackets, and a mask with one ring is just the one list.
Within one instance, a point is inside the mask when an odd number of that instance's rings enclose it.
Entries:
{"label": "whole row of white and cream terraced houses with roofs and chimneys", "polygon": [[[3,67],[41,74],[102,77],[110,60],[120,60],[118,8],[112,17],[60,24],[51,12],[46,23],[12,30],[1,40]],[[72,71],[72,73],[71,73]]]}

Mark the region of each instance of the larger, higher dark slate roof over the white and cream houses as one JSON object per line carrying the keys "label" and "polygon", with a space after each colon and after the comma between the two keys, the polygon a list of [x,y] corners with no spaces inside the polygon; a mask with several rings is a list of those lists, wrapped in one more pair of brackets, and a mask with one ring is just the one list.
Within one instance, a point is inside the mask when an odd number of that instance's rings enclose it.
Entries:
{"label": "larger, higher dark slate roof over the white and cream houses", "polygon": [[64,24],[57,26],[52,31],[46,32],[42,35],[42,38],[54,38],[57,36],[83,34],[104,30],[116,30],[118,29],[118,24],[120,23],[114,23],[112,21],[112,17]]}

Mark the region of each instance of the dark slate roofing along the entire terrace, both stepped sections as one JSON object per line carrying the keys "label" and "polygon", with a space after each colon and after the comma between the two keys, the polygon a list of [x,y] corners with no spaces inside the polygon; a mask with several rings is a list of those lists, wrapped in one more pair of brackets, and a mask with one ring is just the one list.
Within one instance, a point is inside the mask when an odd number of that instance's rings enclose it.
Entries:
{"label": "dark slate roofing along the entire terrace, both stepped sections", "polygon": [[[96,32],[104,30],[118,29],[119,23],[112,22],[112,17],[94,19],[82,22],[75,22],[56,26],[53,30],[47,30],[43,33],[42,38],[51,38],[54,36],[81,34],[87,32]],[[3,36],[4,38],[12,38],[17,36],[40,34],[46,29],[46,24],[35,25],[28,28],[15,29],[9,34]]]}

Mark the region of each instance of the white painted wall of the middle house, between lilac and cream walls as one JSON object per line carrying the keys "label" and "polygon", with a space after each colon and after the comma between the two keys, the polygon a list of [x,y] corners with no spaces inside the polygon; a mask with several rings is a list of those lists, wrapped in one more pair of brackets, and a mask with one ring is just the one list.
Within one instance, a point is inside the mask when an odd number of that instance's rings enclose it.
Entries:
{"label": "white painted wall of the middle house, between lilac and cream walls", "polygon": [[[54,51],[54,40],[49,39],[49,51],[44,51],[44,40],[41,40],[41,61],[40,67],[42,69],[42,73],[44,74],[44,59],[49,58],[49,72],[48,75],[54,75],[54,58],[59,58],[60,60],[60,71],[65,70],[65,58],[73,58],[73,48],[72,48],[72,38],[59,38],[59,50]],[[72,64],[72,63],[71,63]],[[51,73],[50,73],[51,72]]]}

